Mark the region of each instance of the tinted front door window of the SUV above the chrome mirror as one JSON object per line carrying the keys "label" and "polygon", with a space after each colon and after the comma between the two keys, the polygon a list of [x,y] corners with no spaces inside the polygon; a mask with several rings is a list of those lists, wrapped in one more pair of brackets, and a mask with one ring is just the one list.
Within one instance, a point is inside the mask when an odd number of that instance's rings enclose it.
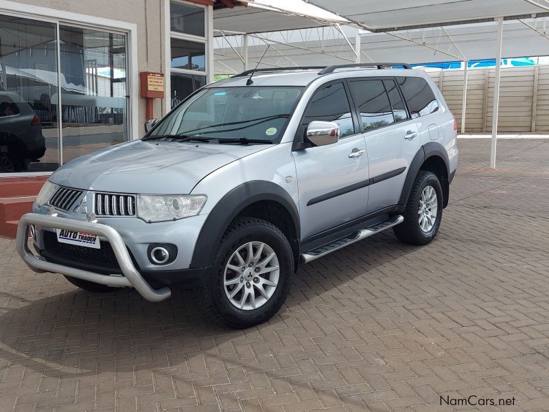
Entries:
{"label": "tinted front door window of the SUV above the chrome mirror", "polygon": [[334,83],[317,91],[305,113],[305,123],[313,120],[336,122],[341,136],[355,133],[349,100],[342,83]]}

